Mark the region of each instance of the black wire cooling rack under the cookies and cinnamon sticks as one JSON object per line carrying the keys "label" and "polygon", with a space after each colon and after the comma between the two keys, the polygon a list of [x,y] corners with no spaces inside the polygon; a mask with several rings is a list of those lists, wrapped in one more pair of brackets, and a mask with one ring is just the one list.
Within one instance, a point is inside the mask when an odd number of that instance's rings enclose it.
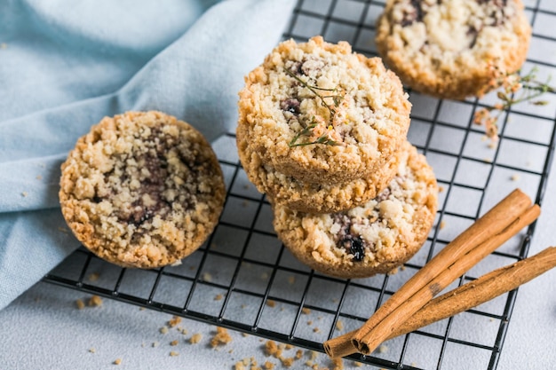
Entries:
{"label": "black wire cooling rack under the cookies and cinnamon sticks", "polygon": [[[537,67],[543,78],[556,71],[551,28],[556,5],[525,3],[534,32],[524,69]],[[323,35],[376,55],[374,24],[383,9],[384,2],[378,1],[300,0],[284,37],[306,41]],[[123,269],[79,248],[44,281],[322,351],[322,342],[330,337],[361,327],[403,282],[505,194],[520,187],[537,203],[543,199],[554,150],[554,94],[545,97],[547,106],[525,104],[505,112],[494,146],[473,123],[473,114],[494,104],[496,95],[449,101],[409,94],[413,110],[408,138],[433,166],[441,207],[425,246],[399,272],[344,280],[299,264],[276,239],[270,206],[247,180],[229,134],[214,143],[226,177],[224,212],[209,240],[183,264]],[[529,226],[453,287],[527,256],[534,229]],[[350,358],[388,369],[494,369],[515,299],[513,291],[394,338],[385,343],[388,350]]]}

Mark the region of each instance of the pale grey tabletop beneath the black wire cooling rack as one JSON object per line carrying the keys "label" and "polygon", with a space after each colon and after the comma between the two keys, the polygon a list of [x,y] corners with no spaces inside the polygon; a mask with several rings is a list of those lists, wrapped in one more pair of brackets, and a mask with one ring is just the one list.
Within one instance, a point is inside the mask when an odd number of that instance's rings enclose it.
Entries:
{"label": "pale grey tabletop beneath the black wire cooling rack", "polygon": [[[317,3],[306,1],[307,7],[309,5],[315,7]],[[326,3],[326,6],[322,5],[323,3]],[[531,6],[536,4],[533,1],[526,3]],[[318,4],[322,5],[322,11],[320,11],[322,13],[330,2],[320,2]],[[553,8],[552,3],[548,0],[543,0],[540,4],[545,10]],[[377,11],[378,8],[374,5],[371,6],[370,13]],[[346,7],[343,11],[349,12],[350,9]],[[357,9],[353,9],[352,12],[357,12]],[[545,18],[547,17],[544,16]],[[550,19],[550,17],[548,18]],[[541,18],[541,22],[537,23],[544,28],[537,27],[536,33],[550,35],[546,34],[543,29],[550,28],[551,22],[544,19]],[[316,25],[314,29],[311,28],[311,25],[311,22],[305,20],[303,27],[297,28],[298,35],[305,35],[306,33],[309,36],[319,33],[318,31],[322,25]],[[341,28],[330,29],[331,31],[327,38],[333,40],[337,35],[340,38]],[[361,37],[361,40],[363,40],[363,37]],[[546,45],[550,47],[545,47]],[[359,46],[367,48],[369,44],[361,42]],[[372,45],[370,47],[372,48]],[[533,43],[530,55],[534,59],[542,59],[548,63],[556,62],[556,51],[553,49],[553,43]],[[553,71],[546,67],[542,68],[542,73],[552,73],[553,75]],[[529,106],[518,109],[528,113],[540,114],[548,118],[547,120],[530,120],[525,116],[512,115],[506,130],[516,137],[537,141],[542,141],[541,138],[544,138],[543,142],[547,142],[548,134],[552,130],[554,114],[556,114],[556,100],[553,95],[549,98],[551,104],[540,110],[532,110]],[[436,108],[439,106],[434,99],[418,94],[412,94],[411,99],[414,103],[414,120],[409,138],[416,144],[423,144],[428,132],[428,126],[425,121],[433,119]],[[492,97],[487,97],[482,102],[488,104],[492,100]],[[472,114],[469,108],[470,106],[465,106],[461,103],[442,102],[439,111],[439,121],[460,126],[465,125],[469,120],[470,114]],[[461,132],[457,130],[435,130],[432,146],[440,150],[457,150],[457,146],[451,148],[446,143],[450,143],[453,140],[457,141],[458,138],[455,138],[454,135],[460,134]],[[472,134],[467,140],[468,142],[465,145],[465,155],[467,156],[487,159],[494,153],[488,148],[488,143],[481,141],[480,135]],[[521,150],[522,148],[515,150],[511,144],[512,141],[503,141],[504,147],[500,151],[499,162],[515,164],[520,168],[534,171],[542,169],[539,168],[543,162],[542,157],[544,153],[542,151],[538,153],[535,146],[528,146],[527,150]],[[216,147],[222,152],[228,151],[233,153],[233,150],[227,146],[218,144]],[[427,154],[427,158],[433,164],[438,177],[446,180],[451,176],[450,163],[447,161],[449,158],[435,155],[434,153]],[[469,165],[470,168],[465,169],[466,165]],[[554,180],[556,175],[553,173],[556,170],[555,167],[555,165],[552,165],[552,175],[544,198],[543,214],[538,221],[529,255],[536,254],[536,252],[547,246],[556,245],[556,232],[553,232],[553,225],[556,224],[556,180]],[[481,187],[484,185],[482,182],[485,177],[484,169],[486,168],[488,168],[487,165],[481,167],[477,162],[460,163],[460,169],[462,170],[457,172],[457,182]],[[514,171],[512,170],[496,169],[493,182],[488,187],[485,201],[486,208],[492,206],[495,201],[517,186],[521,187],[531,196],[536,193],[538,178],[528,176],[524,172],[520,174],[518,181],[512,181],[511,176],[513,174]],[[236,190],[241,191],[241,189],[242,187],[239,186]],[[253,193],[250,193],[252,189],[245,190],[245,192],[248,195],[253,195]],[[448,207],[457,210],[465,209],[470,206],[468,199],[463,196],[454,196],[450,198]],[[241,202],[235,205],[235,207],[243,206]],[[252,211],[250,207],[252,207],[251,204],[248,205],[247,210]],[[473,212],[473,206],[470,209]],[[245,222],[249,224],[250,218],[247,216],[248,214],[246,212],[244,220],[236,219],[237,217],[234,217],[233,211],[226,217],[228,217],[227,219],[230,222]],[[441,232],[441,239],[450,240],[457,235],[461,225],[456,225],[453,221],[456,220],[447,218],[447,226]],[[258,224],[258,228],[265,230],[269,227],[268,225],[266,217],[264,222]],[[217,241],[220,248],[232,244],[226,238],[234,239],[228,233],[219,236],[219,238]],[[506,248],[505,250],[514,251],[515,245],[510,243],[510,245],[504,246],[504,248]],[[255,258],[256,256],[250,257]],[[186,266],[187,264],[195,264],[195,258],[184,264]],[[417,259],[419,258],[422,258],[422,256],[417,256]],[[266,262],[270,263],[272,261],[269,259]],[[286,262],[280,261],[280,264],[293,265],[295,262],[290,260]],[[500,264],[500,262],[488,261],[487,264],[483,264],[476,272],[487,272],[497,267],[496,264]],[[218,271],[218,264],[210,264],[209,267],[214,269],[211,272],[217,281],[218,279],[223,279],[223,276],[229,275],[229,271],[226,269]],[[295,265],[295,267],[300,268],[298,265]],[[114,273],[117,272],[117,270],[106,269],[101,273],[100,282],[104,282],[102,279],[113,281]],[[220,275],[218,275],[218,272]],[[245,272],[245,270],[242,270],[242,272]],[[249,279],[246,278],[246,283],[243,287],[254,290],[263,289],[264,291],[266,286],[259,284],[259,279],[251,278],[259,277],[259,275],[266,273],[266,271],[261,270],[252,273],[254,275],[248,275]],[[288,276],[284,275],[282,279],[287,280]],[[400,277],[394,277],[392,279],[393,284],[399,284],[401,279]],[[556,338],[556,291],[552,287],[554,279],[556,279],[556,272],[552,271],[520,287],[498,369],[553,368],[554,364],[556,364],[556,353],[553,350],[553,338]],[[141,290],[140,284],[137,284],[137,281],[130,287],[125,286],[125,282],[123,288],[128,288],[131,292],[138,295],[145,294]],[[239,282],[242,282],[242,280],[240,279]],[[298,290],[296,290],[297,286],[294,289],[289,287],[287,282],[282,284],[281,287],[283,290],[273,291],[272,294],[290,297],[298,293]],[[172,294],[178,288],[175,285],[169,285],[168,287],[163,287],[160,291],[163,292],[162,294],[167,299],[173,299]],[[145,284],[145,289],[148,289],[148,284]],[[202,295],[203,299],[195,301],[195,304],[198,306],[214,306],[218,311],[218,305],[215,305],[212,301],[213,297],[219,293],[218,289],[210,290],[207,288],[207,292],[208,294]],[[332,298],[338,295],[332,288],[328,290],[328,293]],[[203,368],[216,370],[231,369],[237,360],[250,358],[251,356],[256,358],[259,364],[262,364],[265,360],[270,360],[274,364],[279,362],[275,358],[266,358],[264,356],[262,349],[264,340],[254,335],[243,337],[239,333],[231,332],[233,342],[218,350],[214,350],[208,345],[214,327],[196,321],[184,319],[180,324],[180,327],[187,328],[187,335],[179,334],[177,329],[171,329],[168,334],[163,335],[159,329],[171,319],[171,316],[166,313],[148,310],[140,311],[136,306],[117,303],[108,299],[104,299],[101,307],[86,307],[83,310],[77,310],[75,300],[86,300],[89,296],[83,292],[39,283],[26,294],[20,296],[18,300],[6,309],[0,311],[0,368],[25,370],[37,368],[62,370],[75,368],[165,368],[169,370]],[[315,297],[311,298],[316,300]],[[350,303],[353,307],[358,307],[363,299],[364,297],[353,298],[353,302],[350,301]],[[496,301],[492,307],[492,310],[499,313],[504,308],[504,302]],[[290,322],[284,321],[289,320],[290,316],[287,313],[290,314],[291,312],[287,311],[287,308],[286,311],[280,310],[280,305],[272,310],[266,308],[265,312],[267,315],[265,318],[268,319],[264,324],[273,327],[288,327]],[[353,308],[354,310],[355,308]],[[361,311],[357,313],[361,313]],[[247,319],[248,317],[247,311],[238,309],[230,310],[230,315],[235,315],[238,319]],[[487,342],[488,345],[491,345],[493,335],[496,335],[498,322],[496,320],[490,321],[488,318],[478,319],[471,316],[468,314],[459,315],[454,320],[451,334],[459,339],[471,342]],[[328,318],[323,320],[326,319]],[[303,318],[303,322],[305,321],[306,318]],[[330,323],[322,322],[321,325],[326,327],[327,324]],[[303,334],[314,338],[321,338],[322,335],[326,336],[326,333],[319,334],[313,332],[312,329],[318,327],[318,325],[318,318],[315,318],[312,326],[304,325],[302,327],[305,330]],[[433,326],[430,330],[441,333],[444,325]],[[199,344],[192,345],[187,340],[195,333],[201,333],[203,340]],[[173,340],[179,340],[179,344],[175,347],[170,345],[170,342]],[[435,356],[437,356],[439,342],[429,340],[425,336],[416,335],[411,335],[411,340],[412,342],[406,355],[406,363],[413,363],[424,368],[433,368],[437,362]],[[152,345],[154,342],[158,343],[156,347]],[[399,350],[401,343],[400,341],[388,342],[383,347],[383,352],[376,353],[376,355],[381,358],[388,358],[390,355],[393,355],[395,358],[394,353]],[[95,350],[94,353],[90,351],[93,348]],[[179,352],[179,356],[171,357],[171,350]],[[479,351],[461,348],[449,343],[446,353],[443,369],[468,370],[486,368],[484,365],[486,360],[484,354],[479,353]],[[293,356],[294,354],[295,350],[287,352],[288,356]],[[122,358],[122,363],[120,366],[115,367],[113,362],[116,358]],[[304,357],[303,362],[307,359],[307,357]],[[330,361],[324,355],[320,354],[318,359],[320,365],[332,367]],[[303,362],[298,361],[291,368],[304,368],[304,366],[301,366]],[[277,368],[283,367],[277,366]],[[346,368],[356,367],[346,362]]]}

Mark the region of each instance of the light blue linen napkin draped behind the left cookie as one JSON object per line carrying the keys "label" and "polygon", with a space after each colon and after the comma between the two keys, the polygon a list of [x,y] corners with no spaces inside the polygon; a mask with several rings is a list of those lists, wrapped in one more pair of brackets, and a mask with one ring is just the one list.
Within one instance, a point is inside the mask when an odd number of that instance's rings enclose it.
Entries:
{"label": "light blue linen napkin draped behind the left cookie", "polygon": [[[210,141],[294,0],[0,2],[0,309],[79,243],[60,164],[105,115],[161,110]],[[213,5],[213,6],[211,6]]]}

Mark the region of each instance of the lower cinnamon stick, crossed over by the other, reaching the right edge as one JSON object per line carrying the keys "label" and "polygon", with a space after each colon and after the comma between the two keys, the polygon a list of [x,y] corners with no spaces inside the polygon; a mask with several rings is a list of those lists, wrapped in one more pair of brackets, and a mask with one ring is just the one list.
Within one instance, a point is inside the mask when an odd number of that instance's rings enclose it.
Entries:
{"label": "lower cinnamon stick, crossed over by the other, reaching the right edge", "polygon": [[[504,266],[457,287],[448,293],[426,303],[415,315],[407,319],[386,339],[405,335],[421,327],[433,324],[441,319],[448,319],[460,312],[467,311],[482,303],[503,295],[531,279],[556,267],[556,247],[549,247],[531,256]],[[355,353],[351,338],[357,330],[340,335],[324,343],[326,353],[332,358],[345,357]]]}

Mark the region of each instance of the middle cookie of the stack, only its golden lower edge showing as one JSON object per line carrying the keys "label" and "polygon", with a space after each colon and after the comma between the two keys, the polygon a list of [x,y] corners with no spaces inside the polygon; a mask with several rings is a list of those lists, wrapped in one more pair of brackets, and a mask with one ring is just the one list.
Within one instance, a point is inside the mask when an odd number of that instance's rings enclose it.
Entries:
{"label": "middle cookie of the stack, only its golden lower edge showing", "polygon": [[392,180],[398,169],[401,150],[369,177],[340,184],[314,184],[283,175],[262,161],[244,140],[238,140],[238,153],[250,182],[274,204],[308,213],[331,213],[352,209],[370,201]]}

